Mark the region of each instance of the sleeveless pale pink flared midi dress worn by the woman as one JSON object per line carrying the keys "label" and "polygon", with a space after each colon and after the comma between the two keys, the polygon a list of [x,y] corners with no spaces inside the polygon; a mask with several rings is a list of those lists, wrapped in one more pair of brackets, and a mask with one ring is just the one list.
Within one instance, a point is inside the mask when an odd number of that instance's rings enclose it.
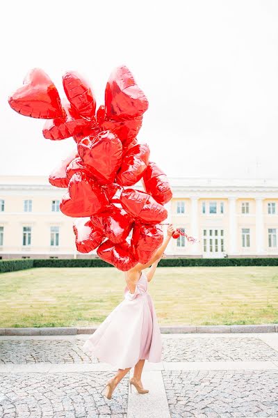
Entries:
{"label": "sleeveless pale pink flared midi dress worn by the woman", "polygon": [[117,369],[133,367],[139,359],[161,362],[161,331],[147,283],[141,272],[134,293],[126,285],[124,300],[85,341],[84,351]]}

